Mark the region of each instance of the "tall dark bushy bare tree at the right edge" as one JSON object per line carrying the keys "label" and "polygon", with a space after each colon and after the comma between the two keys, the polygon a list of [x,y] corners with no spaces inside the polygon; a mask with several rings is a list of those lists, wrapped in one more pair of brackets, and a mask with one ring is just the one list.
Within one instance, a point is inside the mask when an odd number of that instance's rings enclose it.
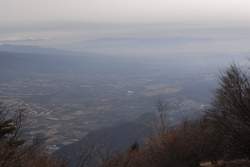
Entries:
{"label": "tall dark bushy bare tree at the right edge", "polygon": [[205,116],[215,127],[229,155],[250,158],[250,74],[235,63],[221,71]]}

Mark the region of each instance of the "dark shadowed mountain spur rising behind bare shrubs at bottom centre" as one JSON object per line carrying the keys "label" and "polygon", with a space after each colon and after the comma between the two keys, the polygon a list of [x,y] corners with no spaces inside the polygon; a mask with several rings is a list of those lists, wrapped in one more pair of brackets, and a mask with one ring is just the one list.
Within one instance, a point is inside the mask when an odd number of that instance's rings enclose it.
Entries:
{"label": "dark shadowed mountain spur rising behind bare shrubs at bottom centre", "polygon": [[144,139],[150,132],[150,127],[147,124],[149,115],[149,113],[145,113],[134,121],[92,131],[78,142],[61,147],[53,155],[70,155],[73,158],[70,160],[69,166],[75,166],[79,152],[92,144],[108,146],[111,153],[129,149],[135,140],[143,145]]}

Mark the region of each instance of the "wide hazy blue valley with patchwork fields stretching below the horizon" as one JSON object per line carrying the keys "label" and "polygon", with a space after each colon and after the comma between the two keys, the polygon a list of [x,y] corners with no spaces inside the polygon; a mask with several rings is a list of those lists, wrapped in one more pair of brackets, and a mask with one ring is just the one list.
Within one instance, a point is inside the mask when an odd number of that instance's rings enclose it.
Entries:
{"label": "wide hazy blue valley with patchwork fields stretching below the horizon", "polygon": [[[16,53],[7,52],[10,48]],[[209,104],[218,69],[231,60],[244,64],[242,55],[247,54],[142,57],[31,46],[2,45],[0,49],[4,50],[0,52],[0,101],[13,108],[27,107],[33,121],[30,131],[46,132],[49,145],[59,146],[92,130],[152,113],[159,98],[169,102],[172,124],[183,116],[192,117]],[[18,53],[24,49],[26,53]]]}

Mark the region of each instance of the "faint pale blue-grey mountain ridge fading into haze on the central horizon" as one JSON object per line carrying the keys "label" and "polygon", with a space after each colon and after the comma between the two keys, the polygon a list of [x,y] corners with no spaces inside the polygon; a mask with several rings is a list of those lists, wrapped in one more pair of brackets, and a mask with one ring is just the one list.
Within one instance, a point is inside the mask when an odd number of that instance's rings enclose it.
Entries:
{"label": "faint pale blue-grey mountain ridge fading into haze on the central horizon", "polygon": [[[98,38],[61,46],[67,50],[88,51],[112,55],[151,55],[166,53],[189,44],[208,44],[218,41],[213,38],[161,37],[161,38]],[[175,48],[175,49],[173,49]],[[185,48],[185,47],[184,47]]]}

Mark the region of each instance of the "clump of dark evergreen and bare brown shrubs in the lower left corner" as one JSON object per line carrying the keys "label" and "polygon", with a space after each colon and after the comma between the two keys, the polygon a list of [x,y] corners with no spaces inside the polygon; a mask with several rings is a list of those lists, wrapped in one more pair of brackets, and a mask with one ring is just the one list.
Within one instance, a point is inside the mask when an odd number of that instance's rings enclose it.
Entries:
{"label": "clump of dark evergreen and bare brown shrubs in the lower left corner", "polygon": [[24,131],[26,109],[19,107],[12,116],[0,103],[0,166],[64,166],[44,150],[45,135],[30,136]]}

